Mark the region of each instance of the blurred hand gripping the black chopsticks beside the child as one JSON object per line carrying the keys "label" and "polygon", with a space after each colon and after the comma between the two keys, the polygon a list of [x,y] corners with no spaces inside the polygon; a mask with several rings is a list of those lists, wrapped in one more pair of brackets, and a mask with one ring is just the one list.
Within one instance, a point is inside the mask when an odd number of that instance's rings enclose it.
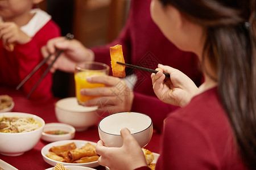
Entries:
{"label": "blurred hand gripping the black chopsticks beside the child", "polygon": [[52,54],[51,58],[47,61],[48,65],[51,64],[56,57],[58,53],[57,49],[63,50],[63,53],[61,53],[60,57],[53,64],[50,70],[52,73],[56,70],[73,73],[77,62],[94,60],[92,50],[86,48],[80,41],[75,39],[66,40],[65,37],[56,37],[49,40],[41,49],[44,58]]}

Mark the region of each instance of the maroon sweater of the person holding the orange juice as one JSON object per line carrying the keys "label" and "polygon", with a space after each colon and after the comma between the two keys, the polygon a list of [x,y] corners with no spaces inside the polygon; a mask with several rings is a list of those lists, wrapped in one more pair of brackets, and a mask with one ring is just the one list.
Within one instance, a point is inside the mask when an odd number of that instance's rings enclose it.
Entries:
{"label": "maroon sweater of the person holding the orange juice", "polygon": [[[177,49],[164,37],[150,16],[151,0],[131,1],[130,12],[125,27],[118,39],[109,45],[93,48],[96,61],[110,63],[109,47],[121,44],[126,63],[156,69],[158,63],[179,69],[196,84],[201,83],[197,57]],[[150,73],[134,70],[138,77],[134,87],[134,101],[131,111],[148,114],[159,129],[167,113],[175,108],[160,101],[152,90]]]}

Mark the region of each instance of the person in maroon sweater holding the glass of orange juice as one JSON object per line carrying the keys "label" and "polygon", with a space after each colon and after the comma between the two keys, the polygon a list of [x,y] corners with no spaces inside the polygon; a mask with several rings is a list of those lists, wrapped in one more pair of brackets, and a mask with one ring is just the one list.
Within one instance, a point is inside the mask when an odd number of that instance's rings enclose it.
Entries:
{"label": "person in maroon sweater holding the glass of orange juice", "polygon": [[[125,26],[118,38],[108,45],[94,47],[91,51],[76,40],[63,41],[63,37],[50,40],[47,46],[42,49],[44,57],[47,57],[49,53],[54,54],[55,47],[65,50],[64,55],[60,56],[52,71],[60,69],[73,72],[76,62],[93,60],[93,58],[95,58],[95,61],[110,65],[109,47],[121,44],[126,63],[144,66],[154,70],[158,63],[170,65],[183,71],[199,85],[202,75],[196,55],[177,49],[174,44],[164,37],[163,33],[160,32],[159,28],[152,21],[150,16],[150,2],[150,0],[131,1],[129,16]],[[101,94],[98,94],[98,88],[83,90],[82,94],[84,95],[102,96],[98,99],[88,101],[86,105],[97,105],[98,100],[108,97],[108,99],[111,99],[108,101],[112,102],[107,104],[113,104],[115,106],[112,113],[133,111],[148,114],[154,122],[155,129],[160,130],[167,113],[177,107],[163,103],[155,96],[152,90],[150,73],[141,70],[127,70],[127,75],[131,74],[130,71],[133,71],[133,75],[135,76],[128,76],[130,78],[127,78],[126,82],[122,83],[120,83],[119,78],[112,76],[90,79],[94,83],[98,81],[104,82],[111,88],[101,88],[101,90],[104,90],[100,91]],[[122,84],[124,86],[123,91],[125,91],[126,84],[133,84],[135,79],[137,79],[137,82],[135,83],[133,92],[122,95],[123,92],[118,91],[118,84]],[[119,96],[116,94],[119,94]],[[108,112],[109,110],[108,107],[101,107],[101,111]]]}

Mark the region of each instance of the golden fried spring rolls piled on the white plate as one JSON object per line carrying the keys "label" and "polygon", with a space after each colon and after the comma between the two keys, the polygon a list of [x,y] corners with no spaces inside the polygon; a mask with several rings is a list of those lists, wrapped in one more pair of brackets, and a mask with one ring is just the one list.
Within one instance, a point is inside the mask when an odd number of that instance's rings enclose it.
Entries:
{"label": "golden fried spring rolls piled on the white plate", "polygon": [[65,163],[88,163],[98,160],[100,156],[96,154],[96,147],[86,143],[81,148],[75,143],[68,143],[61,146],[53,146],[46,155],[48,158]]}

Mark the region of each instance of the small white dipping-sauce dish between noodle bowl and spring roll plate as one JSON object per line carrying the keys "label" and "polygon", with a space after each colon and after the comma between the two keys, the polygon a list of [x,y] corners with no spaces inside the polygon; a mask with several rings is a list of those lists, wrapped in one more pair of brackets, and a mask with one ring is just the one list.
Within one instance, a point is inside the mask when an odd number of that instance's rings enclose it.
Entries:
{"label": "small white dipping-sauce dish between noodle bowl and spring roll plate", "polygon": [[[45,131],[52,131],[52,130],[67,131],[68,133],[59,134],[59,135],[44,133]],[[75,137],[75,132],[76,132],[75,128],[71,125],[61,124],[61,123],[50,123],[44,126],[41,139],[47,142],[73,139]]]}

